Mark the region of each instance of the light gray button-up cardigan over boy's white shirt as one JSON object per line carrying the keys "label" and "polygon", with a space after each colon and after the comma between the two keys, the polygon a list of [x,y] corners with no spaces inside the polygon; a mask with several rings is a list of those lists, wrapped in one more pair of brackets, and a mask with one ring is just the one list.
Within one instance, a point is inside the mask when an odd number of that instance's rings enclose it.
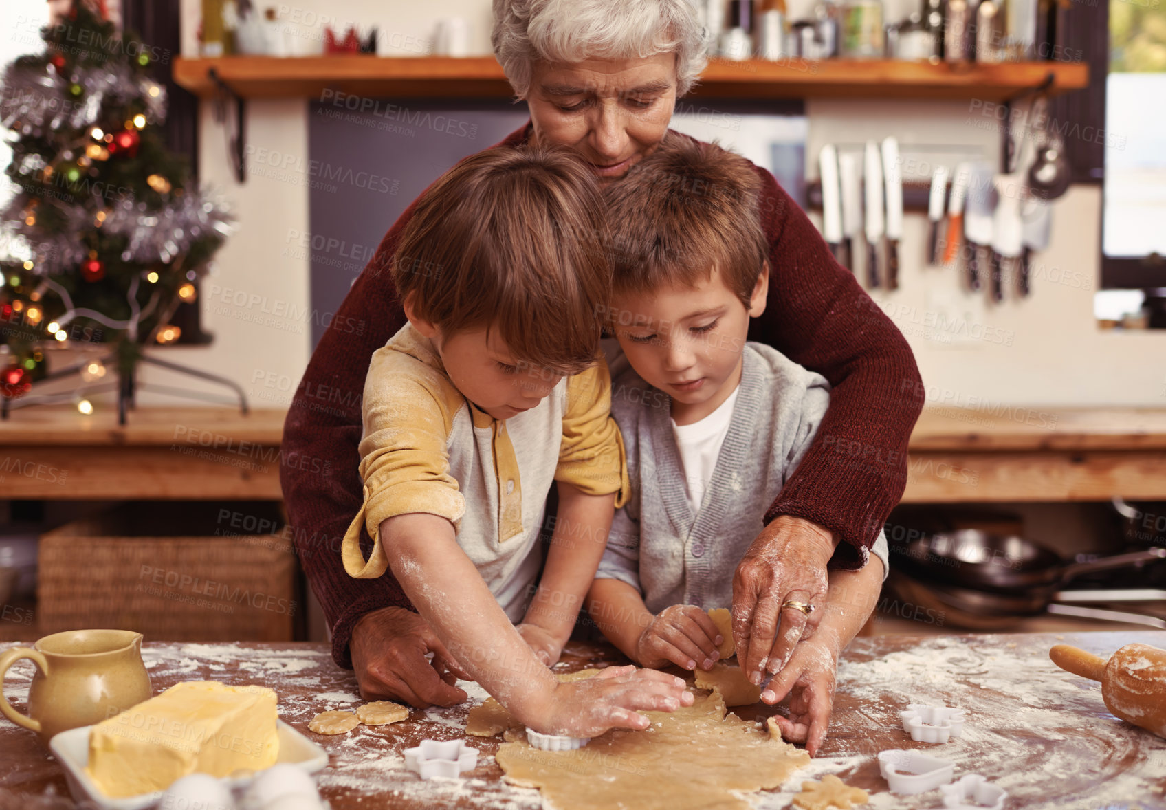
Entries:
{"label": "light gray button-up cardigan over boy's white shirt", "polygon": [[[746,344],[729,432],[694,515],[684,496],[670,397],[635,373],[614,340],[605,340],[604,350],[632,492],[616,512],[596,577],[632,585],[653,613],[669,605],[731,607],[737,563],[813,442],[830,383],[771,346]],[[871,551],[883,561],[885,579],[883,534]]]}

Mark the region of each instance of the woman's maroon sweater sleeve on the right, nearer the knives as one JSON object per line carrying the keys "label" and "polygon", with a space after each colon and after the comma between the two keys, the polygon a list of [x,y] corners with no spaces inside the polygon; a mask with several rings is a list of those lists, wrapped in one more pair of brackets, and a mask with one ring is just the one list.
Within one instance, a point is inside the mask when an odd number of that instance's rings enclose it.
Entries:
{"label": "woman's maroon sweater sleeve on the right, nearer the knives", "polygon": [[833,256],[806,213],[758,168],[770,239],[770,294],[750,339],[831,386],[830,406],[793,477],[765,514],[813,521],[843,542],[831,564],[866,559],[907,480],[907,439],[922,380],[894,323]]}

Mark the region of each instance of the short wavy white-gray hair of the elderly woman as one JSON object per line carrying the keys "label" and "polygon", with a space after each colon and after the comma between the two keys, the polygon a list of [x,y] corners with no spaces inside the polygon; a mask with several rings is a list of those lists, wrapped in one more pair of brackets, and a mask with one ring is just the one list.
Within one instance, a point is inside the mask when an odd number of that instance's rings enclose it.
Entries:
{"label": "short wavy white-gray hair of the elderly woman", "polygon": [[494,56],[526,98],[532,63],[676,55],[676,96],[704,70],[704,28],[693,0],[493,0]]}

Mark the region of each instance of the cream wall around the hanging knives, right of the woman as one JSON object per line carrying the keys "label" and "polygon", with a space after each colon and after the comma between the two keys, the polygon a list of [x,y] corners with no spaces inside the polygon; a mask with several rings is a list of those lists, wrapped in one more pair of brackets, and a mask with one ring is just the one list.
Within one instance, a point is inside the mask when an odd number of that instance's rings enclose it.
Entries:
{"label": "cream wall around the hanging knives, right of the woman", "polygon": [[[996,114],[981,103],[830,99],[810,101],[807,112],[807,161],[827,142],[887,135],[899,140],[908,170],[913,157],[954,165],[950,155],[913,153],[912,145],[956,145],[998,161]],[[809,172],[816,177],[816,167]],[[929,402],[1166,407],[1166,332],[1097,327],[1100,227],[1101,188],[1072,186],[1053,204],[1049,247],[1033,256],[1032,294],[1018,298],[1006,287],[993,304],[985,290],[965,291],[955,268],[927,266],[927,220],[907,214],[900,288],[872,297],[911,343]],[[929,327],[940,319],[957,326]]]}

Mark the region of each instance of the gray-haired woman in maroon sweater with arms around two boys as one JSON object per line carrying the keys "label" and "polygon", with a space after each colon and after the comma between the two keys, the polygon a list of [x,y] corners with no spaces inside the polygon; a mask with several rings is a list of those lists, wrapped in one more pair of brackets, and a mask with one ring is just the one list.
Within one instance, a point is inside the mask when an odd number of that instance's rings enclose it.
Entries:
{"label": "gray-haired woman in maroon sweater with arms around two boys", "polygon": [[[604,183],[618,183],[660,143],[676,99],[705,64],[703,30],[689,0],[494,0],[493,45],[531,112],[529,122],[504,143],[570,147]],[[738,660],[754,682],[813,632],[821,612],[805,606],[824,604],[827,570],[866,562],[902,494],[907,438],[922,404],[902,336],[834,260],[773,176],[758,172],[773,270],[765,315],[750,337],[826,376],[833,393],[816,439],[732,575],[732,633]],[[360,408],[335,402],[319,408],[312,401],[325,387],[359,393],[372,353],[405,324],[382,270],[410,213],[412,206],[357,279],[287,417],[283,458],[323,458],[335,472],[322,478],[285,465],[282,483],[337,663],[356,670],[366,699],[451,705],[466,697],[450,671],[456,662],[398,583],[391,575],[345,573],[338,542],[361,503]],[[368,329],[353,333],[338,326],[353,322]],[[367,551],[371,540],[364,543]],[[807,688],[799,684],[795,691]]]}

